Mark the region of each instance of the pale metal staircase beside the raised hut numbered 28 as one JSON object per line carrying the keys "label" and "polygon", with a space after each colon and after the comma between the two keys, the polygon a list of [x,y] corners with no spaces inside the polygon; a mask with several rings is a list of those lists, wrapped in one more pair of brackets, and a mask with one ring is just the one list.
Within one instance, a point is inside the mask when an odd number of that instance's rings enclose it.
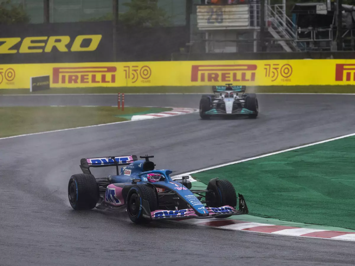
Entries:
{"label": "pale metal staircase beside the raised hut numbered 28", "polygon": [[276,39],[286,52],[300,51],[297,46],[297,27],[286,16],[283,5],[266,5],[266,23],[269,33]]}

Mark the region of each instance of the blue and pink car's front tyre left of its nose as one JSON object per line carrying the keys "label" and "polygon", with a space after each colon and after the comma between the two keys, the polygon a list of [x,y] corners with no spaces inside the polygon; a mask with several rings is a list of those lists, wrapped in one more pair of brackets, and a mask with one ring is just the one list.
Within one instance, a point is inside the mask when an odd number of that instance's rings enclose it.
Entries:
{"label": "blue and pink car's front tyre left of its nose", "polygon": [[148,202],[150,211],[157,210],[158,198],[154,188],[144,184],[133,186],[127,194],[126,204],[128,216],[132,222],[137,224],[151,222],[150,216],[149,218],[144,217],[142,209],[143,200]]}

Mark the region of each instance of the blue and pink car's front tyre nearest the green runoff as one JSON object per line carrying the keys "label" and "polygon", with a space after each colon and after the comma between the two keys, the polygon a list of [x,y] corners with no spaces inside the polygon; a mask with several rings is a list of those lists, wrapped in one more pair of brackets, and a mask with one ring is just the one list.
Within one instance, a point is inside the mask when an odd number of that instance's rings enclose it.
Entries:
{"label": "blue and pink car's front tyre nearest the green runoff", "polygon": [[[237,195],[235,189],[228,180],[217,180],[216,181],[218,195],[215,193],[206,193],[206,200],[209,201],[209,207],[222,207],[229,205],[232,207],[237,206]],[[220,215],[215,218],[228,218],[231,215]]]}

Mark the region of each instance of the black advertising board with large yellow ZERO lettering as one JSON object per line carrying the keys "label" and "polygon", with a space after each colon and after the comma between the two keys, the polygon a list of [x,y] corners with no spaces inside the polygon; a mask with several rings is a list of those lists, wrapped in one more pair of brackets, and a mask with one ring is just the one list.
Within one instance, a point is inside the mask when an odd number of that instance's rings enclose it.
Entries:
{"label": "black advertising board with large yellow ZERO lettering", "polygon": [[112,60],[110,21],[0,26],[1,63]]}

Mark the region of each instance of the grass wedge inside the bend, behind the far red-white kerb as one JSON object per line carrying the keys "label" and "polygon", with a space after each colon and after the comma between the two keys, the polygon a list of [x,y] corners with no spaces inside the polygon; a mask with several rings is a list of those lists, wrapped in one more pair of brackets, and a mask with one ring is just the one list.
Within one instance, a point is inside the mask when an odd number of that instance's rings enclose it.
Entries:
{"label": "grass wedge inside the bend, behind the far red-white kerb", "polygon": [[[138,113],[170,111],[170,108],[125,107],[0,107],[0,137],[130,120]],[[122,116],[122,117],[121,117]]]}

